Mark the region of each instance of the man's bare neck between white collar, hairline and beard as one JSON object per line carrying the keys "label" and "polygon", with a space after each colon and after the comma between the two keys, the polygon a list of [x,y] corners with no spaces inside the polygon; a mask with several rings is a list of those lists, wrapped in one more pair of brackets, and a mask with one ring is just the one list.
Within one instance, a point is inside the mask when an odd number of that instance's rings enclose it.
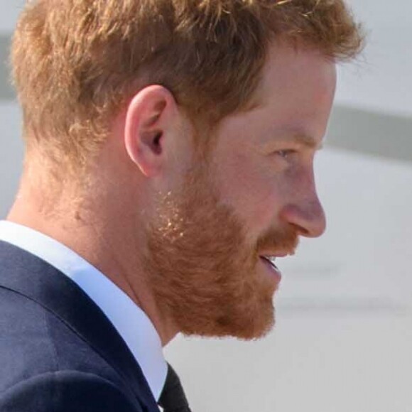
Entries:
{"label": "man's bare neck between white collar, hairline and beard", "polygon": [[[99,198],[98,192],[93,190],[95,197],[91,199],[68,190],[60,191],[58,200],[50,203],[50,197],[38,188],[33,190],[33,185],[23,179],[7,219],[65,244],[99,269],[148,315],[165,346],[178,330],[167,315],[159,312],[141,268],[139,250],[144,247],[141,225],[128,221],[124,210],[132,209],[114,201],[121,197],[110,193],[111,200]],[[123,213],[112,210],[112,204],[121,207]]]}

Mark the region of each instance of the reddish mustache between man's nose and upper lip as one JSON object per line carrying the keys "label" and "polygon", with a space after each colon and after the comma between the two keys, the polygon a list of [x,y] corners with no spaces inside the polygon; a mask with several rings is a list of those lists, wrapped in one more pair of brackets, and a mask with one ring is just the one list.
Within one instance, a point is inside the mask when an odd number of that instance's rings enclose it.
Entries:
{"label": "reddish mustache between man's nose and upper lip", "polygon": [[281,251],[294,254],[299,244],[299,232],[293,227],[283,229],[269,229],[256,244],[256,253],[259,251]]}

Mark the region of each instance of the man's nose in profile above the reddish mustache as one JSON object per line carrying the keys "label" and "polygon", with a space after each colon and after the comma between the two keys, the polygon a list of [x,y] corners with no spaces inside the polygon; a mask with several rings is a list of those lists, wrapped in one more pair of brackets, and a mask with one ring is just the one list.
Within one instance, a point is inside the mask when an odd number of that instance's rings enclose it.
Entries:
{"label": "man's nose in profile above the reddish mustache", "polygon": [[319,237],[326,229],[325,212],[315,195],[312,200],[291,203],[283,207],[281,219],[293,225],[304,237]]}

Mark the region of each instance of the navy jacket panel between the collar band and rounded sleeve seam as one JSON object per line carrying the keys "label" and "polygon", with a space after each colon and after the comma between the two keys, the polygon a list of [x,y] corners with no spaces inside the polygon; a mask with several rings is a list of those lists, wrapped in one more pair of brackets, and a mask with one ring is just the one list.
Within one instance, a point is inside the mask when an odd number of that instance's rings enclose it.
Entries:
{"label": "navy jacket panel between the collar band and rounded sleeve seam", "polygon": [[106,376],[124,386],[113,367],[70,326],[30,298],[2,288],[0,336],[0,393],[33,376],[65,370]]}

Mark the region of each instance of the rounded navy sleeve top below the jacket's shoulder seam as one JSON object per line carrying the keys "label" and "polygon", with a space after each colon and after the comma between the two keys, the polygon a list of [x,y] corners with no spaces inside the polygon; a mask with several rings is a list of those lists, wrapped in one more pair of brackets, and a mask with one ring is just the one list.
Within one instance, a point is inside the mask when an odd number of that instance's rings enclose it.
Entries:
{"label": "rounded navy sleeve top below the jacket's shoulder seam", "polygon": [[141,412],[111,381],[77,371],[47,372],[18,382],[0,394],[1,412]]}

